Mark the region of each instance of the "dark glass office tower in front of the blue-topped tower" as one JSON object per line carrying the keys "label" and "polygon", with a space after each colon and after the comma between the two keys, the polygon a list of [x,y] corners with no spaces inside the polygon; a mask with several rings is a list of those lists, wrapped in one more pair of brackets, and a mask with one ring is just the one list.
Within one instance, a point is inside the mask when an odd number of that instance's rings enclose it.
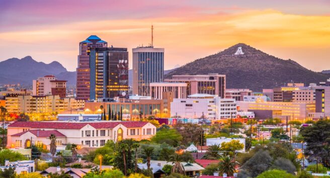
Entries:
{"label": "dark glass office tower in front of the blue-topped tower", "polygon": [[90,100],[128,97],[127,48],[91,48]]}

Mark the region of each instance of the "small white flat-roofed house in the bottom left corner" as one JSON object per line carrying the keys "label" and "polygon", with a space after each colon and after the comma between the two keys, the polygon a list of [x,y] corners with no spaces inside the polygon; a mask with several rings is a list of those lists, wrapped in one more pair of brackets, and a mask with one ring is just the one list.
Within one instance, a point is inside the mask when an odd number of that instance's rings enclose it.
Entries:
{"label": "small white flat-roofed house in the bottom left corner", "polygon": [[9,160],[5,160],[5,166],[0,166],[0,169],[5,170],[12,167],[15,168],[15,172],[17,174],[29,173],[35,171],[34,165],[35,162],[33,160],[14,161],[14,162],[9,162]]}

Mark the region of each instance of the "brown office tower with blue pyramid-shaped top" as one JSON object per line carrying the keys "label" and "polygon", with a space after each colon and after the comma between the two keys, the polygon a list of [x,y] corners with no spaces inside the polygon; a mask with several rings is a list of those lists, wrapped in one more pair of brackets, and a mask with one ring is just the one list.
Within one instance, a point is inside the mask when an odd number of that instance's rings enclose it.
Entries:
{"label": "brown office tower with blue pyramid-shaped top", "polygon": [[91,35],[79,43],[76,98],[79,100],[90,99],[90,51],[92,47],[107,47],[108,43],[96,35]]}

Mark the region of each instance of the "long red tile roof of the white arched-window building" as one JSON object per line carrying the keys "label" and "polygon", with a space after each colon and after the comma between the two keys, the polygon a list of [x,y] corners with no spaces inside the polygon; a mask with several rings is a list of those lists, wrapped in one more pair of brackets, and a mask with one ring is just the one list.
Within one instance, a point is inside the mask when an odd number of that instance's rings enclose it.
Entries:
{"label": "long red tile roof of the white arched-window building", "polygon": [[21,128],[47,128],[47,129],[81,129],[86,125],[91,125],[96,129],[111,129],[116,127],[119,124],[127,128],[133,127],[143,127],[148,122],[140,122],[140,121],[123,121],[123,122],[82,122],[82,123],[72,123],[72,122],[14,122],[10,124],[8,127],[21,127]]}

